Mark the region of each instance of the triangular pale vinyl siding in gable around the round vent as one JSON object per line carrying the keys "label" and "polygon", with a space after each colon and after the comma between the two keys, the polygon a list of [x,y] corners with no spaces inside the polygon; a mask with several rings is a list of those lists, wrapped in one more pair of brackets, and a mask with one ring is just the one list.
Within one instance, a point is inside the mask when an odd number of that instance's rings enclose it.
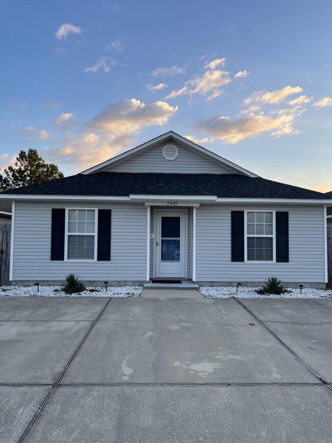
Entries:
{"label": "triangular pale vinyl siding in gable around the round vent", "polygon": [[148,151],[136,155],[135,157],[118,163],[105,171],[168,172],[175,174],[234,174],[234,172],[222,165],[218,165],[216,162],[179,144],[175,144],[179,151],[175,160],[166,160],[162,155],[162,148],[168,144],[170,143],[162,143]]}

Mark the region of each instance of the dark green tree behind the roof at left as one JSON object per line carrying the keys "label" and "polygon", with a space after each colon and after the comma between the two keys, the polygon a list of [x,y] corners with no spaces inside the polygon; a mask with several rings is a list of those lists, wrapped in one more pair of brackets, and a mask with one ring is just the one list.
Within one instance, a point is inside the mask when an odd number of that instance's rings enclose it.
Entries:
{"label": "dark green tree behind the roof at left", "polygon": [[58,167],[45,161],[38,155],[36,149],[20,151],[16,157],[15,166],[5,169],[6,176],[0,174],[0,189],[21,188],[28,184],[62,178],[63,174]]}

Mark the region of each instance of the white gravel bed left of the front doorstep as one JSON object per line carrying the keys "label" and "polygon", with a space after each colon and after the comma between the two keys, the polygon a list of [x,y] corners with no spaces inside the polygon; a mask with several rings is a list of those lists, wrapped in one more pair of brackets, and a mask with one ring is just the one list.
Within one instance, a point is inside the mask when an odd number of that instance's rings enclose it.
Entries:
{"label": "white gravel bed left of the front doorstep", "polygon": [[141,286],[123,286],[118,288],[86,288],[79,294],[67,295],[61,286],[2,286],[0,297],[138,297],[143,291]]}

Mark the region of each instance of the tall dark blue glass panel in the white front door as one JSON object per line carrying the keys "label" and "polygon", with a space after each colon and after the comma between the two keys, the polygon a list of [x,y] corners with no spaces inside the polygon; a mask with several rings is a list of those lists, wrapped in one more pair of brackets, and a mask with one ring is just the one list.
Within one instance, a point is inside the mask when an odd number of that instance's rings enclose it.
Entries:
{"label": "tall dark blue glass panel in the white front door", "polygon": [[161,261],[180,261],[180,217],[161,217]]}

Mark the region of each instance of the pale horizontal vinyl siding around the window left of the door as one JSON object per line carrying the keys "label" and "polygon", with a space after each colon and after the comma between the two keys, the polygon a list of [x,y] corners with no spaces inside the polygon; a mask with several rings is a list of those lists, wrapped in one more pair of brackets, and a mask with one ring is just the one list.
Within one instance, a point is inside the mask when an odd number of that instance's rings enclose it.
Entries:
{"label": "pale horizontal vinyl siding around the window left of the door", "polygon": [[[51,261],[52,208],[112,210],[110,262]],[[147,209],[143,203],[16,201],[14,281],[61,280],[68,273],[85,281],[146,281]]]}

